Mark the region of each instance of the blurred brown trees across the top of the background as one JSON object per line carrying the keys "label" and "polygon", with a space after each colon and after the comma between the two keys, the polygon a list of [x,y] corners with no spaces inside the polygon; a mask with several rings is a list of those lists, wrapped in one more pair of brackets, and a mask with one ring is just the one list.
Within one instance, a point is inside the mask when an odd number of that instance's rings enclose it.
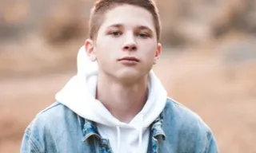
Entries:
{"label": "blurred brown trees across the top of the background", "polygon": [[[93,0],[0,0],[0,41],[39,34],[51,44],[86,37]],[[255,0],[157,0],[162,41],[197,45],[230,31],[256,33]]]}

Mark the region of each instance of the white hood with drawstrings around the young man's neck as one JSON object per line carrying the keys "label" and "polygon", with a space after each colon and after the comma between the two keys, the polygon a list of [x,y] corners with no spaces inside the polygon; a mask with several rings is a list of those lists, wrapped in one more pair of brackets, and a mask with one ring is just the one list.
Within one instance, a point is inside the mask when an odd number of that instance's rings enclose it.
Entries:
{"label": "white hood with drawstrings around the young man's neck", "polygon": [[[55,95],[56,100],[87,120],[92,120],[99,125],[116,128],[117,140],[120,140],[120,128],[134,128],[138,130],[140,133],[139,145],[142,146],[143,131],[154,122],[166,105],[166,90],[154,72],[150,71],[149,93],[146,104],[142,111],[129,124],[126,124],[112,116],[104,105],[95,99],[98,64],[97,61],[90,61],[84,46],[78,51],[77,66],[78,73]],[[120,143],[118,147],[121,147]]]}

